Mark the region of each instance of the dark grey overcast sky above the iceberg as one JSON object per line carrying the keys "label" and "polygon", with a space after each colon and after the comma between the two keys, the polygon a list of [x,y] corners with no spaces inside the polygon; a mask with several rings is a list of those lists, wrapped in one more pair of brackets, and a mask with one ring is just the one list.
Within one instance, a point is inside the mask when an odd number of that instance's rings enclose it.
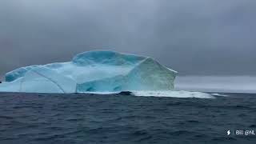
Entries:
{"label": "dark grey overcast sky above the iceberg", "polygon": [[181,75],[256,75],[255,17],[255,0],[1,0],[0,75],[101,49]]}

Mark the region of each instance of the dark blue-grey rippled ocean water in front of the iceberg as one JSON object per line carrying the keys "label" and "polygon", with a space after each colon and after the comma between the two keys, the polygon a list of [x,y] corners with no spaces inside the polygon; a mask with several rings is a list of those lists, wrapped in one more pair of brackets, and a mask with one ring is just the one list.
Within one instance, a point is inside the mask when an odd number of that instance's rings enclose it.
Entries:
{"label": "dark blue-grey rippled ocean water in front of the iceberg", "polygon": [[255,144],[256,135],[235,132],[256,134],[256,94],[226,95],[2,93],[0,143]]}

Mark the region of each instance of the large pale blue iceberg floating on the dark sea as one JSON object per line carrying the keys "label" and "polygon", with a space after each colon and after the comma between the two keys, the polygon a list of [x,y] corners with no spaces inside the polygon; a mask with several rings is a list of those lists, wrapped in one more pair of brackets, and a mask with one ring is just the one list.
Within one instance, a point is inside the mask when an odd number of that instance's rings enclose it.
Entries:
{"label": "large pale blue iceberg floating on the dark sea", "polygon": [[153,58],[114,51],[89,51],[71,62],[27,66],[6,74],[0,91],[83,93],[173,90],[177,72]]}

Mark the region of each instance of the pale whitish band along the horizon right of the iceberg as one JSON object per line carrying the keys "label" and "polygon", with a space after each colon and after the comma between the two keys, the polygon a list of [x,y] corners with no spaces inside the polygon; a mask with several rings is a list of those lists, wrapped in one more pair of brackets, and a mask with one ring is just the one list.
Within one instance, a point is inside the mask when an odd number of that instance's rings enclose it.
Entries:
{"label": "pale whitish band along the horizon right of the iceberg", "polygon": [[226,93],[256,93],[256,77],[183,76],[175,80],[176,90]]}

